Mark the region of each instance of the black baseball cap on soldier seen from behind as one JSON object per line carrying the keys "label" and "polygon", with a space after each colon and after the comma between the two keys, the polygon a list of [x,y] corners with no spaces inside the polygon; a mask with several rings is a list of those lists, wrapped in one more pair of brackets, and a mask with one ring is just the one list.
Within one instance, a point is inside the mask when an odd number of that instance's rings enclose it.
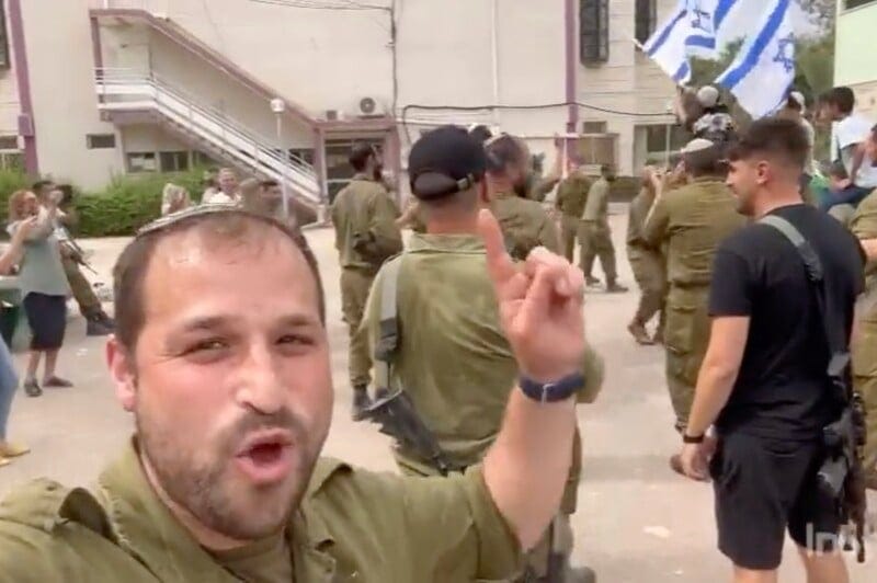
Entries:
{"label": "black baseball cap on soldier seen from behind", "polygon": [[411,192],[433,201],[470,188],[485,176],[485,148],[458,126],[442,126],[411,148],[408,175]]}

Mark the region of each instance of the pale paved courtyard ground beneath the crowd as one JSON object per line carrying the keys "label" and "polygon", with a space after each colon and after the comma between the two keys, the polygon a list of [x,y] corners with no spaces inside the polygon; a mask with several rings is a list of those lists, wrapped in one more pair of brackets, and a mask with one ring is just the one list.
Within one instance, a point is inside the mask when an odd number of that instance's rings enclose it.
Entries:
{"label": "pale paved courtyard ground beneath the crowd", "polygon": [[[616,245],[624,219],[613,217]],[[395,470],[388,442],[368,425],[348,418],[346,332],[341,323],[338,266],[331,235],[308,235],[322,267],[338,391],[334,424],[326,453],[357,465]],[[109,274],[122,240],[84,242],[93,261]],[[619,249],[626,283],[630,272]],[[105,279],[109,281],[109,279]],[[729,569],[715,550],[713,496],[709,487],[683,480],[667,467],[677,437],[662,375],[660,348],[637,347],[625,330],[636,295],[589,295],[588,333],[606,358],[607,380],[599,402],[579,412],[584,437],[584,479],[574,516],[576,559],[592,565],[603,582],[664,583],[727,581]],[[84,338],[81,319],[71,321],[70,342],[60,371],[75,389],[48,391],[41,399],[19,398],[11,434],[29,443],[33,454],[0,469],[0,493],[15,483],[50,476],[66,483],[88,483],[130,433],[132,423],[116,405],[103,369],[101,340]],[[23,364],[20,361],[20,364]],[[877,501],[875,501],[877,502]],[[877,544],[870,541],[872,556]],[[782,581],[801,582],[804,573],[787,551]],[[854,568],[855,583],[877,581],[877,557]]]}

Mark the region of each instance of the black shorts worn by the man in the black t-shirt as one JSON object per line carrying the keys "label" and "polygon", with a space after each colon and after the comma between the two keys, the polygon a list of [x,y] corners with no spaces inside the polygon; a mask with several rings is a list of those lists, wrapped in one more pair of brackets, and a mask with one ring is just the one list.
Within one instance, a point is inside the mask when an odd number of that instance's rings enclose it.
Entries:
{"label": "black shorts worn by the man in the black t-shirt", "polygon": [[841,524],[817,484],[824,457],[817,442],[724,435],[709,468],[719,550],[737,567],[774,570],[788,529],[800,547],[833,551]]}

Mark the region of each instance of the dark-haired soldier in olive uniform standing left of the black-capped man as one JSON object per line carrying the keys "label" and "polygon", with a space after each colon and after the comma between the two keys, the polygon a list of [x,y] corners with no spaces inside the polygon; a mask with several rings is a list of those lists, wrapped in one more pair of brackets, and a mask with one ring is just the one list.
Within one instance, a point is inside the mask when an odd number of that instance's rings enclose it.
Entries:
{"label": "dark-haired soldier in olive uniform standing left of the black-capped man", "polygon": [[332,203],[335,248],[341,260],[341,309],[350,330],[350,382],[353,387],[354,421],[363,419],[368,407],[367,347],[356,341],[365,301],[377,270],[387,258],[402,250],[402,235],[396,220],[399,212],[383,184],[380,160],[367,144],[353,147],[350,163],[356,171],[351,183]]}

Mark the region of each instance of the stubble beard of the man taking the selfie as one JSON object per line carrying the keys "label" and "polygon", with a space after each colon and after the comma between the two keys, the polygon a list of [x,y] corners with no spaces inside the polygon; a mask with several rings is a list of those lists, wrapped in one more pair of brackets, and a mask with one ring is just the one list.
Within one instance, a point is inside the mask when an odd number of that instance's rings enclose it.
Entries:
{"label": "stubble beard of the man taking the selfie", "polygon": [[[184,508],[203,526],[236,540],[257,540],[280,533],[298,507],[310,481],[322,444],[307,450],[304,430],[292,415],[286,422],[270,423],[253,415],[238,421],[216,439],[213,459],[204,461],[186,455],[179,444],[169,441],[170,432],[136,415],[140,455],[155,472],[159,487],[173,503]],[[276,416],[276,415],[275,415]],[[291,426],[292,425],[292,426]],[[236,479],[232,465],[244,435],[258,428],[283,427],[294,436],[294,460],[289,476],[271,487],[251,487]]]}

